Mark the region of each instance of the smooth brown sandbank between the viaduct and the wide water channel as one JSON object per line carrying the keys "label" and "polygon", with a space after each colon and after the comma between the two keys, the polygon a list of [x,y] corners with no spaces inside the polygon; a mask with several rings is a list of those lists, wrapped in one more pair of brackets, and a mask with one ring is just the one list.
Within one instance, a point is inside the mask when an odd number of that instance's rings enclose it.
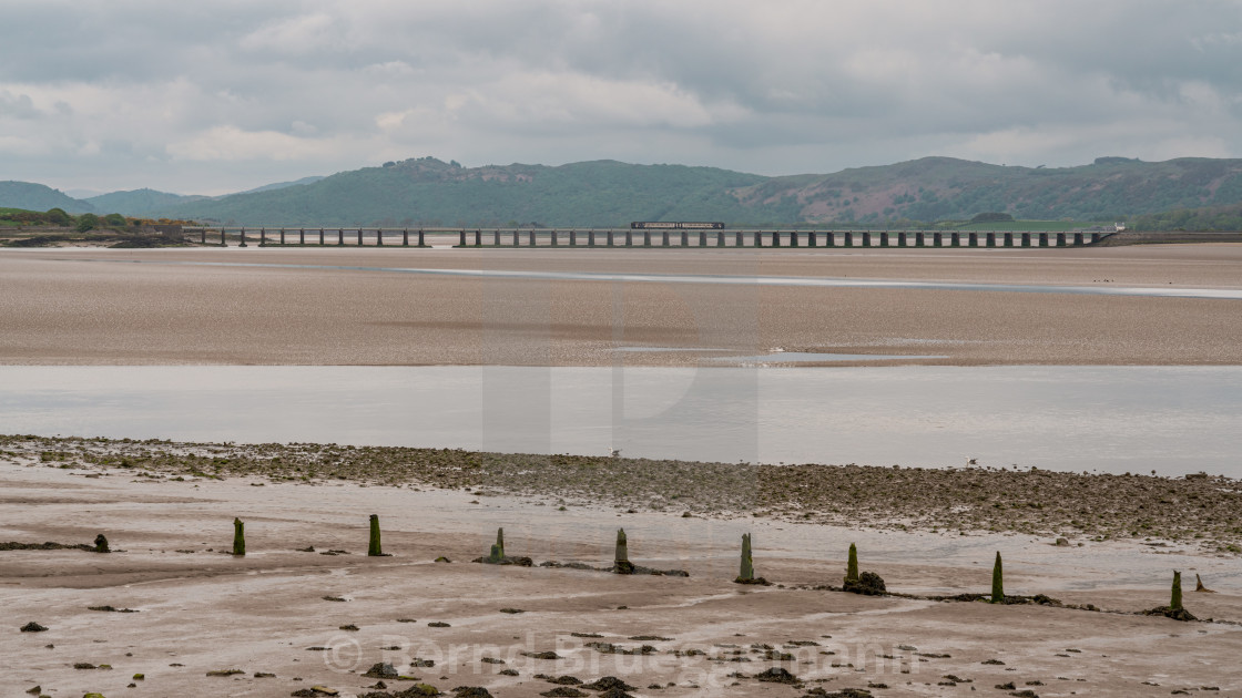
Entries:
{"label": "smooth brown sandbank between the viaduct and the wide water channel", "polygon": [[[219,262],[273,266],[205,266]],[[0,363],[696,365],[773,348],[966,365],[1242,363],[1237,301],[373,271],[381,267],[1242,288],[1237,245],[4,250]]]}

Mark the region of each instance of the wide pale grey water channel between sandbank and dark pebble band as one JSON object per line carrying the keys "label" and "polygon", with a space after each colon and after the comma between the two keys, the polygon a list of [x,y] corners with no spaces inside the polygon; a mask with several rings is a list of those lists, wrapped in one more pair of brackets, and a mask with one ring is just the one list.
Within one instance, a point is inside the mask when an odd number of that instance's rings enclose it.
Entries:
{"label": "wide pale grey water channel between sandbank and dark pebble band", "polygon": [[1242,366],[0,366],[0,432],[1242,477]]}

